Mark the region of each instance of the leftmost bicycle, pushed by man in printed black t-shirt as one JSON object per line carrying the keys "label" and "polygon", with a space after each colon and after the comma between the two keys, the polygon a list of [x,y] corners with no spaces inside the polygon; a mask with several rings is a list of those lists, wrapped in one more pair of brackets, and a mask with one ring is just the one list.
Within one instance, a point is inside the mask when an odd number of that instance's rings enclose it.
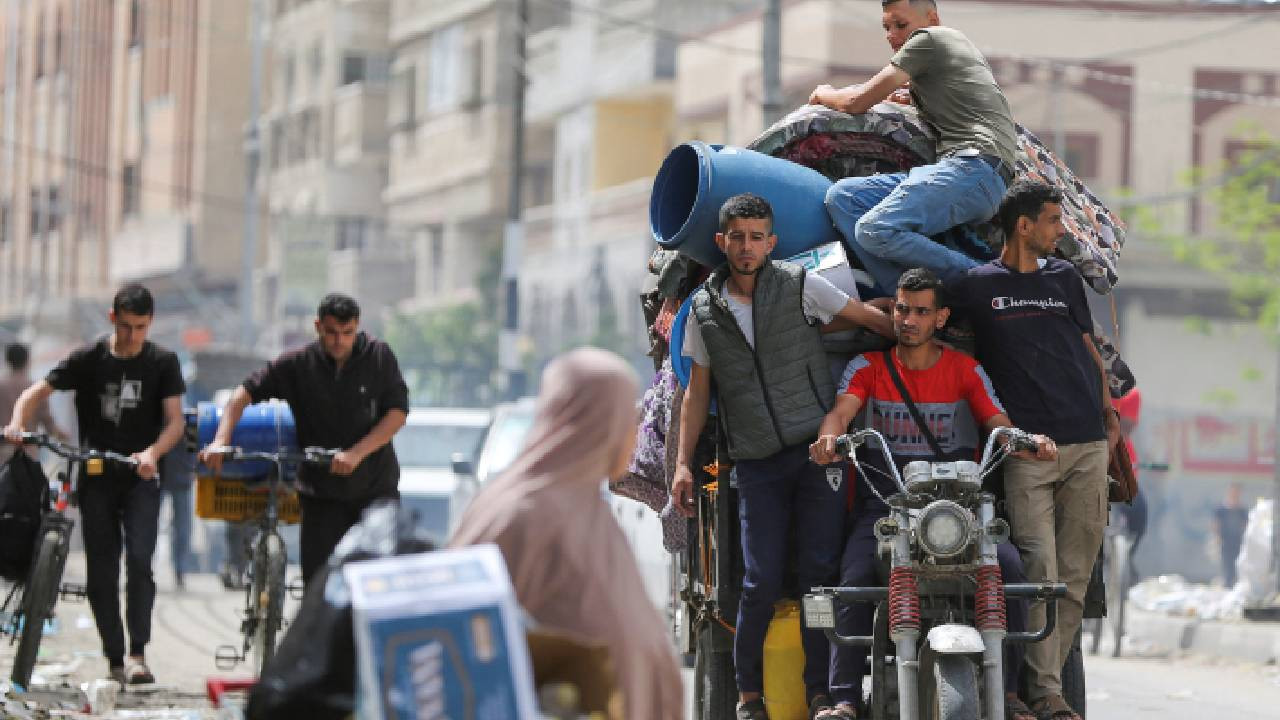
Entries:
{"label": "leftmost bicycle, pushed by man in printed black t-shirt", "polygon": [[40,523],[36,550],[32,553],[31,570],[27,578],[15,583],[5,597],[0,610],[8,610],[17,600],[14,612],[8,618],[4,632],[10,642],[18,639],[18,651],[13,660],[9,679],[26,688],[31,683],[40,641],[44,638],[45,621],[54,616],[59,597],[84,597],[83,584],[63,584],[63,570],[67,568],[67,555],[70,548],[72,528],[76,521],[65,515],[70,488],[74,486],[74,473],[84,465],[88,475],[101,475],[104,462],[119,462],[137,468],[138,461],[109,450],[83,450],[54,439],[45,433],[22,433],[22,445],[44,447],[67,460],[67,469],[58,474],[58,501],[45,511]]}

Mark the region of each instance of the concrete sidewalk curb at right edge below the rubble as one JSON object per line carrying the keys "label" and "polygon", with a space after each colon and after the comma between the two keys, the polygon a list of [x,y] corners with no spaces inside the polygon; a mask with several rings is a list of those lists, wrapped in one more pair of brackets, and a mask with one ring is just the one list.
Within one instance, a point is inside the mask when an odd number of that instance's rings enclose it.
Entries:
{"label": "concrete sidewalk curb at right edge below the rubble", "polygon": [[1175,618],[1130,607],[1125,634],[1155,650],[1247,662],[1280,662],[1280,623]]}

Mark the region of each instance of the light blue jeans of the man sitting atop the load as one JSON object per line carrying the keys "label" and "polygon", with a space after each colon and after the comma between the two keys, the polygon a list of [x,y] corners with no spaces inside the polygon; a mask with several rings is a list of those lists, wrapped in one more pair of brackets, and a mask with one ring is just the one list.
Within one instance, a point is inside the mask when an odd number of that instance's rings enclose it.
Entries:
{"label": "light blue jeans of the man sitting atop the load", "polygon": [[910,173],[845,178],[827,191],[827,211],[876,284],[892,296],[904,270],[928,268],[946,282],[977,265],[928,236],[991,219],[1005,190],[1005,179],[982,159],[947,158]]}

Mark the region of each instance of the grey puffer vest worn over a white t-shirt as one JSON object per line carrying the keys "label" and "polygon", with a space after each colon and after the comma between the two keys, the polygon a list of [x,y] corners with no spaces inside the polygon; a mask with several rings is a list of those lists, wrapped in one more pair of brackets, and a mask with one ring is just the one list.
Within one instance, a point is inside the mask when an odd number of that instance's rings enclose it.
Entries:
{"label": "grey puffer vest worn over a white t-shirt", "polygon": [[804,316],[805,270],[772,260],[760,268],[751,297],[755,348],[724,301],[728,268],[694,293],[716,380],[719,418],[733,460],[756,460],[812,442],[836,398],[822,333]]}

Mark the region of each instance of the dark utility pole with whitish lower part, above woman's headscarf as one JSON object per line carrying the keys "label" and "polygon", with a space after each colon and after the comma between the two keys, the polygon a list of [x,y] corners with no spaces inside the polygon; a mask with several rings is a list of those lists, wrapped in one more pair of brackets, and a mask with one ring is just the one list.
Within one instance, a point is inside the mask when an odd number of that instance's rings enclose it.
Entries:
{"label": "dark utility pole with whitish lower part, above woman's headscarf", "polygon": [[507,196],[507,224],[502,233],[502,328],[498,331],[498,369],[503,374],[503,395],[515,400],[525,395],[525,370],[520,359],[520,263],[525,250],[521,223],[521,181],[525,174],[525,54],[529,35],[529,0],[516,3],[516,77],[511,102],[511,184]]}

